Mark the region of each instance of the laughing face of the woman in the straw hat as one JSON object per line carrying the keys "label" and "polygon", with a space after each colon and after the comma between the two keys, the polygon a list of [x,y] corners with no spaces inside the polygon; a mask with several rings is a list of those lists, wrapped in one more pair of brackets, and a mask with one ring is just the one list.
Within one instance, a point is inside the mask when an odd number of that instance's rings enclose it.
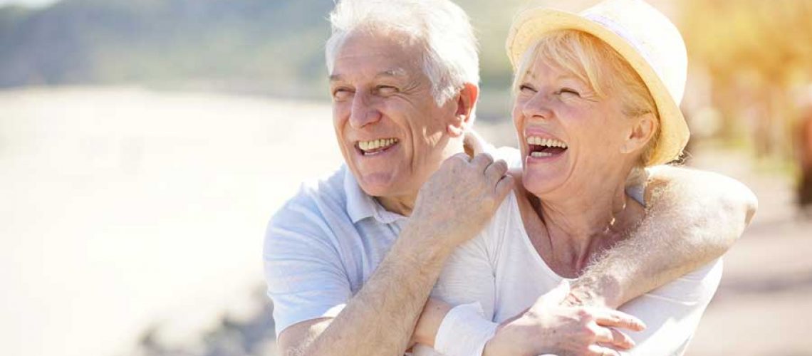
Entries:
{"label": "laughing face of the woman in the straw hat", "polygon": [[517,85],[513,123],[529,192],[542,198],[583,193],[625,179],[633,165],[632,155],[624,154],[633,123],[617,95],[599,97],[577,75],[538,58]]}

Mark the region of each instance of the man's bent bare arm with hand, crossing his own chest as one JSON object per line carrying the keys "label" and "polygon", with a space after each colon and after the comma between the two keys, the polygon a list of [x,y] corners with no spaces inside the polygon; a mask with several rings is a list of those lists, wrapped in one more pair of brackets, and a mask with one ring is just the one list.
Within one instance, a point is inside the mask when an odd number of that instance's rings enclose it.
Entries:
{"label": "man's bent bare arm with hand, crossing his own chest", "polygon": [[335,318],[286,328],[283,354],[403,354],[447,255],[482,229],[512,189],[507,165],[451,157],[421,188],[409,223]]}

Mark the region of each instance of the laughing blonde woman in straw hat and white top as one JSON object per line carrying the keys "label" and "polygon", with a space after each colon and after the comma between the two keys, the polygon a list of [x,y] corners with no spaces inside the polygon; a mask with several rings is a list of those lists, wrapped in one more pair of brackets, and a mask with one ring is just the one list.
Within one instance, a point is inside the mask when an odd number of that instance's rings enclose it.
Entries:
{"label": "laughing blonde woman in straw hat and white top", "polygon": [[508,56],[521,184],[487,228],[501,234],[486,231],[447,262],[434,296],[457,307],[438,326],[426,326],[438,312],[427,308],[418,329],[437,330],[443,354],[616,354],[635,344],[628,352],[683,353],[719,284],[718,260],[620,307],[646,330],[627,335],[611,317],[574,312],[549,320],[547,335],[521,330],[558,306],[562,281],[603,251],[646,253],[627,240],[646,215],[646,167],[678,158],[689,136],[678,107],[686,70],[679,32],[638,0],[580,15],[533,9],[512,24]]}

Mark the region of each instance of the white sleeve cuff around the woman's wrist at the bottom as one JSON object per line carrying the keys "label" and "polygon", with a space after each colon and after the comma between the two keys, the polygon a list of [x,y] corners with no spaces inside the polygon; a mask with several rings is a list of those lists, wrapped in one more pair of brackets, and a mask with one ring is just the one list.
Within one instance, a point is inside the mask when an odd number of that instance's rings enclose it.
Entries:
{"label": "white sleeve cuff around the woman's wrist at the bottom", "polygon": [[443,318],[434,350],[448,356],[480,356],[499,324],[487,320],[479,302],[461,304]]}

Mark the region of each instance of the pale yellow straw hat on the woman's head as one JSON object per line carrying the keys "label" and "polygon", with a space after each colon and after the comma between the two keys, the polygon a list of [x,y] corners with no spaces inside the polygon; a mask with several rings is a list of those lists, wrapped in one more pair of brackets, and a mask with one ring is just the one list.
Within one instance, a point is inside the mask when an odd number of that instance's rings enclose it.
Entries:
{"label": "pale yellow straw hat on the woman's head", "polygon": [[530,46],[547,32],[590,33],[615,49],[646,83],[660,119],[660,136],[647,165],[680,157],[690,132],[680,111],[688,54],[680,32],[668,18],[641,0],[607,0],[579,14],[545,8],[516,16],[506,43],[513,70]]}

